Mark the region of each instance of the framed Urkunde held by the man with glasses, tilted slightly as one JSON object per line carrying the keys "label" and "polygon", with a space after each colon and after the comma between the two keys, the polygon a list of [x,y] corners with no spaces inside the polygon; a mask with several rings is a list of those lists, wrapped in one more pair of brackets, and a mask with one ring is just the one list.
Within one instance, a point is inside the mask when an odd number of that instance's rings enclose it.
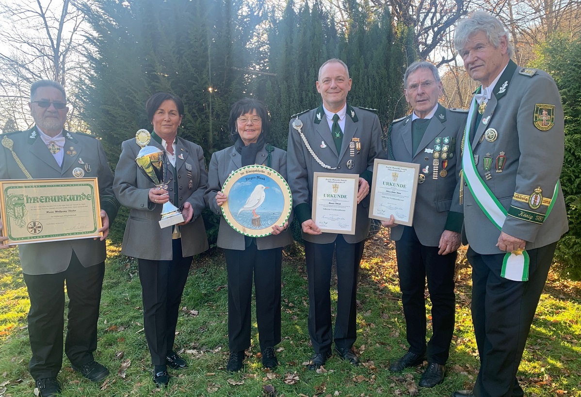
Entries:
{"label": "framed Urkunde held by the man with glasses, tilted slightly", "polygon": [[414,221],[415,194],[418,189],[419,164],[375,159],[369,217],[399,225]]}

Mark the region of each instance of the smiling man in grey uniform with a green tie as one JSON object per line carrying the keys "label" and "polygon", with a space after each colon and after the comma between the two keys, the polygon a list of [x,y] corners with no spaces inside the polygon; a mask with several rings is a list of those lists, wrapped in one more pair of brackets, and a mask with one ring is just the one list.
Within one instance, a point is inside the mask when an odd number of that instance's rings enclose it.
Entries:
{"label": "smiling man in grey uniform with a green tie", "polygon": [[[307,365],[311,370],[327,362],[333,338],[341,358],[353,365],[359,363],[353,351],[357,338],[357,272],[370,227],[366,197],[373,164],[383,150],[378,117],[347,104],[351,83],[349,70],[341,60],[322,64],[316,83],[321,106],[296,116],[289,125],[288,181],[295,214],[302,225],[309,277],[309,334],[315,351]],[[323,233],[315,224],[311,215],[314,172],[359,175],[355,234]],[[329,291],[333,252],[338,281],[334,336]]]}

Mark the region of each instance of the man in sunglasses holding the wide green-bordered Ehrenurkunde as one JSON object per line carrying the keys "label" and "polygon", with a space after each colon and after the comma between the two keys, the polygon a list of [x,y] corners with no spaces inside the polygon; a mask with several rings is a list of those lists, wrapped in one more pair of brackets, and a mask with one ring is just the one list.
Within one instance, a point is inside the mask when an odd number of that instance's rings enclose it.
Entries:
{"label": "man in sunglasses holding the wide green-bordered Ehrenurkunde", "polygon": [[[56,379],[63,361],[64,283],[69,313],[64,352],[74,370],[91,381],[109,370],[95,361],[97,320],[105,274],[105,239],[117,215],[113,174],[99,140],[63,129],[67,111],[64,88],[52,80],[30,87],[35,125],[4,135],[0,150],[0,179],[99,178],[103,232],[100,239],[21,244],[20,264],[30,297],[28,335],[32,358],[29,370],[41,397],[60,393]],[[0,248],[6,237],[0,237]]]}

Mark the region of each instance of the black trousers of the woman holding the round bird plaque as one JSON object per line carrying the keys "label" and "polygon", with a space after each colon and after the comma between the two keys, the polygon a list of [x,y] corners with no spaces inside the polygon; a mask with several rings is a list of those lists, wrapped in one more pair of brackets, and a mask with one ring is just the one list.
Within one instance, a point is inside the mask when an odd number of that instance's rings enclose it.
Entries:
{"label": "black trousers of the woman holding the round bird plaque", "polygon": [[256,291],[256,323],[260,350],[281,341],[282,247],[244,251],[224,250],[228,270],[228,347],[239,352],[250,347],[252,275]]}

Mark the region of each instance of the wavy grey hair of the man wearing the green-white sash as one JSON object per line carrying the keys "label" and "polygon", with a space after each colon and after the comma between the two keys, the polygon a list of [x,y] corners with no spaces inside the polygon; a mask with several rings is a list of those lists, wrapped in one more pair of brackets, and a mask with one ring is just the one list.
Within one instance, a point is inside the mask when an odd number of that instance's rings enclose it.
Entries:
{"label": "wavy grey hair of the man wearing the green-white sash", "polygon": [[460,52],[470,36],[478,32],[486,34],[486,38],[494,48],[498,48],[500,40],[505,37],[508,45],[508,57],[512,57],[514,50],[503,24],[497,17],[484,11],[475,11],[468,18],[460,21],[454,31],[454,48]]}

